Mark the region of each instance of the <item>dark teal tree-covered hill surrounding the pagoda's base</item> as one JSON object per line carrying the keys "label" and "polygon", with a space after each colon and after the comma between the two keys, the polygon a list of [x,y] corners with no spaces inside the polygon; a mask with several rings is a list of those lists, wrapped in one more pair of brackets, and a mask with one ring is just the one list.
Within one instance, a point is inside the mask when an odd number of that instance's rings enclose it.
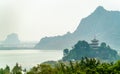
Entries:
{"label": "dark teal tree-covered hill surrounding the pagoda's base", "polygon": [[[65,52],[67,51],[67,52]],[[110,48],[106,43],[101,43],[97,49],[90,47],[90,44],[86,41],[78,41],[77,44],[68,52],[68,49],[64,50],[64,61],[80,60],[82,57],[97,58],[104,61],[114,61],[119,59],[117,51]]]}

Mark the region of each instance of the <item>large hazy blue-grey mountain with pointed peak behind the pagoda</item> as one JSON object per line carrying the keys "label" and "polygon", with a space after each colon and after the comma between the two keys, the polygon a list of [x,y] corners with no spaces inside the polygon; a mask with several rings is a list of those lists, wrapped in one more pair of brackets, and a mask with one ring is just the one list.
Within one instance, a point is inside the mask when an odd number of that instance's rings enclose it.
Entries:
{"label": "large hazy blue-grey mountain with pointed peak behind the pagoda", "polygon": [[45,37],[35,46],[40,49],[64,49],[72,47],[78,40],[90,41],[96,35],[97,39],[120,48],[120,12],[108,11],[102,6],[88,17],[83,18],[73,33],[63,36]]}

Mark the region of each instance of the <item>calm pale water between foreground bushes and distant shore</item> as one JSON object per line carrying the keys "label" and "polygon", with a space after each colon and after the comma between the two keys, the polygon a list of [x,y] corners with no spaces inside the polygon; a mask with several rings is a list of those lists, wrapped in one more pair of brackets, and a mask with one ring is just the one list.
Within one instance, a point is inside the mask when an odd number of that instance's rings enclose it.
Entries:
{"label": "calm pale water between foreground bushes and distant shore", "polygon": [[59,60],[62,56],[62,50],[0,50],[0,68],[6,64],[13,67],[18,62],[29,69],[44,61]]}

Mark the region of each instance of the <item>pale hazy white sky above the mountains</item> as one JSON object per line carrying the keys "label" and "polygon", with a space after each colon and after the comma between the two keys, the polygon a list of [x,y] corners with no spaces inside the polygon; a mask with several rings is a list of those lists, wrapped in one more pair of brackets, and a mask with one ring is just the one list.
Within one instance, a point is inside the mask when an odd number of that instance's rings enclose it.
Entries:
{"label": "pale hazy white sky above the mountains", "polygon": [[73,32],[97,6],[120,11],[120,0],[0,0],[0,40],[10,33],[39,41]]}

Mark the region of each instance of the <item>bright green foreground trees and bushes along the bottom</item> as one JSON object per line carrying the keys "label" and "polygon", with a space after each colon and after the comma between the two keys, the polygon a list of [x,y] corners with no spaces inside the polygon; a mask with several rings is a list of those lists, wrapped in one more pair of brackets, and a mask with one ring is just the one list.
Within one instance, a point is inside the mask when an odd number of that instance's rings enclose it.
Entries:
{"label": "bright green foreground trees and bushes along the bottom", "polygon": [[[84,57],[80,61],[56,62],[56,64],[38,64],[25,74],[120,74],[120,61],[101,62],[95,58]],[[22,74],[22,67],[16,64],[0,69],[0,74]]]}

